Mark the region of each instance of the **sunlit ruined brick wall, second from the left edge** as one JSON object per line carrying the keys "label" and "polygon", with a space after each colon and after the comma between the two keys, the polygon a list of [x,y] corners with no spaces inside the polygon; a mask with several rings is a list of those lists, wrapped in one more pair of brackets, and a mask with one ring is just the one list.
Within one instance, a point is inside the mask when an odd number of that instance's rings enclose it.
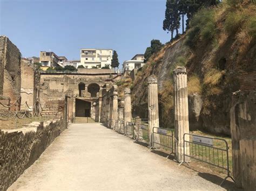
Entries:
{"label": "sunlit ruined brick wall, second from the left edge", "polygon": [[39,98],[40,73],[39,70],[26,60],[21,61],[21,109],[25,109],[28,103],[32,108]]}

